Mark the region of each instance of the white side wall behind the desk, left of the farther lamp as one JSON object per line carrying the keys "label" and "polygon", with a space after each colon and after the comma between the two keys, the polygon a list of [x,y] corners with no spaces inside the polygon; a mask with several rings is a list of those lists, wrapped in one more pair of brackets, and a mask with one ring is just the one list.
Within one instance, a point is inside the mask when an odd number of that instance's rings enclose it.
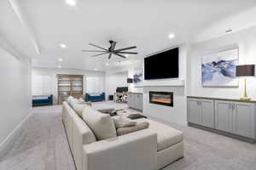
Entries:
{"label": "white side wall behind the desk, left of the farther lamp", "polygon": [[106,97],[108,98],[109,94],[113,94],[118,87],[127,87],[127,77],[128,72],[116,72],[116,73],[108,73],[105,77],[106,84]]}

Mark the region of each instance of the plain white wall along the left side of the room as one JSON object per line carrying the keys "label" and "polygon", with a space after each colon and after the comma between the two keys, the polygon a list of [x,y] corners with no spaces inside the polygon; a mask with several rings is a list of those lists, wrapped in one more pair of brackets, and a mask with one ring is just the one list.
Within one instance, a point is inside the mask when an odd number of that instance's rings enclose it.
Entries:
{"label": "plain white wall along the left side of the room", "polygon": [[31,63],[0,48],[0,150],[32,111]]}

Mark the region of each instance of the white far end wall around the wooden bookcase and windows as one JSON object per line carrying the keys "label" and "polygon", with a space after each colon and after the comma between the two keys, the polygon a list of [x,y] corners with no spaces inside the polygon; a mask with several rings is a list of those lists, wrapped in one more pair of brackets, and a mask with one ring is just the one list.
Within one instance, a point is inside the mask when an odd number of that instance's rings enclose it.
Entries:
{"label": "white far end wall around the wooden bookcase and windows", "polygon": [[57,74],[71,74],[84,75],[84,94],[86,92],[86,77],[102,77],[103,87],[105,87],[105,72],[102,71],[83,71],[75,69],[48,69],[48,68],[32,68],[32,75],[49,75],[52,77],[52,94],[54,94],[54,104],[57,103],[58,88],[57,88]]}

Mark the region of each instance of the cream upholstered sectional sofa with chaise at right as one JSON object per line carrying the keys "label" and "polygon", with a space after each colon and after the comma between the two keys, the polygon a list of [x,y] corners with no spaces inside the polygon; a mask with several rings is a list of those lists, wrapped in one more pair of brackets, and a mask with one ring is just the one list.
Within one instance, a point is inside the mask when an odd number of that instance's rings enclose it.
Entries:
{"label": "cream upholstered sectional sofa with chaise at right", "polygon": [[[66,101],[62,109],[63,124],[78,170],[156,170],[183,157],[183,133],[160,122],[146,119],[147,129],[98,140],[97,132],[91,130],[81,113]],[[90,116],[102,114],[93,108],[88,108],[85,114],[89,112]]]}

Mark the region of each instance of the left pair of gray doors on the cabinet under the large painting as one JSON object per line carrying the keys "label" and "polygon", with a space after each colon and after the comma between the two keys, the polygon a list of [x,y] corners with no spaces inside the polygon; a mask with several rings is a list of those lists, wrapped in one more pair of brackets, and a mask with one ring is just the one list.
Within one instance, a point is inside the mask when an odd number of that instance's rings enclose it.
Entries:
{"label": "left pair of gray doors on the cabinet under the large painting", "polygon": [[213,128],[213,101],[209,99],[188,99],[188,122]]}

